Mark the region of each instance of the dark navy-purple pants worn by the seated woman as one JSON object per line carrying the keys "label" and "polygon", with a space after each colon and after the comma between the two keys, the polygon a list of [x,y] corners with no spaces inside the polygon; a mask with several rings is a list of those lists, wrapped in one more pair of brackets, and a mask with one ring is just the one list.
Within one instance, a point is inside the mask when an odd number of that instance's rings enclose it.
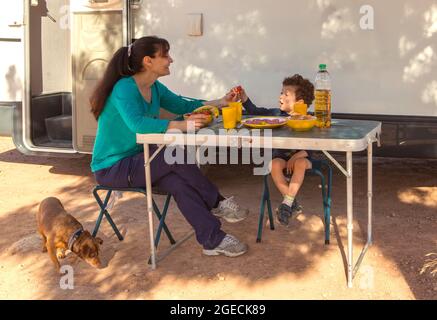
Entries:
{"label": "dark navy-purple pants worn by the seated woman", "polygon": [[[156,145],[151,145],[150,154],[156,149]],[[164,151],[165,148],[150,162],[152,186],[173,196],[204,249],[217,247],[225,236],[220,220],[211,213],[219,198],[217,187],[196,164],[168,164]],[[94,175],[97,183],[103,186],[145,188],[144,153],[124,158]]]}

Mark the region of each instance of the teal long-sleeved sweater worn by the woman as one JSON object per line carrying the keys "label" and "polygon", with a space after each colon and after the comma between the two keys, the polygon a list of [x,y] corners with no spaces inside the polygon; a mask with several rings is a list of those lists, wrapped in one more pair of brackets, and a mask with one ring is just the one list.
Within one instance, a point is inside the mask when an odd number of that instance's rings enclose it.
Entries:
{"label": "teal long-sleeved sweater worn by the woman", "polygon": [[159,119],[160,108],[184,114],[201,105],[201,100],[188,101],[159,81],[152,85],[152,100],[148,103],[134,78],[120,79],[98,118],[91,170],[111,167],[123,158],[142,152],[142,145],[136,143],[137,133],[166,132],[170,120]]}

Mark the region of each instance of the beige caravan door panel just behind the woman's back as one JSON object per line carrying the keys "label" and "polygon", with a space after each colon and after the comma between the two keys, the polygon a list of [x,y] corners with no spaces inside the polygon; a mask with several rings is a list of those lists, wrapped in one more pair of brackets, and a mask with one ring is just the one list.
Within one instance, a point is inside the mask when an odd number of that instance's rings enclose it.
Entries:
{"label": "beige caravan door panel just behind the woman's back", "polygon": [[128,43],[128,1],[72,1],[73,146],[92,152],[97,122],[89,97],[114,52]]}

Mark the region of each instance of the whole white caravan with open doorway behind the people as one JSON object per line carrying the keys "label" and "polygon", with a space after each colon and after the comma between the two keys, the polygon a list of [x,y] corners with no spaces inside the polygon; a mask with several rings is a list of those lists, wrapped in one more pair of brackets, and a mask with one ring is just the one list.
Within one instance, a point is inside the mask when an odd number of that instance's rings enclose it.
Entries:
{"label": "whole white caravan with open doorway behind the people", "polygon": [[437,157],[434,0],[0,1],[0,134],[26,154],[92,152],[88,97],[112,54],[169,40],[163,81],[215,98],[242,84],[276,107],[284,77],[326,63],[337,118],[383,122],[377,155]]}

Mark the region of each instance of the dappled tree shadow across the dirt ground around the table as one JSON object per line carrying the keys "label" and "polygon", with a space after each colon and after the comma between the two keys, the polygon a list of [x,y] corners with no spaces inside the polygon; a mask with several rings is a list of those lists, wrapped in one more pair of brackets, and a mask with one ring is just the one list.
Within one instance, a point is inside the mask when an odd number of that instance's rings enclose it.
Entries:
{"label": "dappled tree shadow across the dirt ground around the table", "polygon": [[[10,152],[10,151],[8,151]],[[16,152],[16,151],[13,151]],[[8,158],[0,155],[2,161]],[[15,155],[14,155],[15,156]],[[64,161],[36,157],[39,164],[52,165],[50,173],[81,175],[75,184],[57,192],[67,211],[78,218],[85,228],[92,230],[98,214],[98,206],[92,197],[93,178],[84,172],[89,162],[75,159],[74,164],[63,169]],[[435,280],[429,275],[419,275],[425,255],[436,246],[435,204],[426,200],[428,194],[420,189],[437,184],[437,162],[377,161],[374,178],[374,246],[395,262],[409,287],[418,299],[435,299]],[[86,168],[86,170],[85,170]],[[354,204],[356,206],[355,243],[364,243],[367,228],[366,165],[359,160],[355,165]],[[84,262],[67,257],[63,264],[71,264],[75,271],[75,290],[66,291],[59,287],[59,277],[46,254],[40,252],[40,240],[35,232],[34,215],[38,202],[11,210],[0,217],[0,227],[7,230],[0,237],[0,255],[6,254],[17,261],[16,268],[23,277],[38,279],[38,294],[35,299],[110,299],[119,297],[154,298],[154,291],[164,280],[180,282],[195,281],[199,286],[208,281],[231,275],[248,288],[276,279],[281,275],[303,278],[314,269],[324,266],[325,256],[338,255],[340,249],[345,266],[346,241],[346,184],[336,170],[333,186],[331,244],[324,245],[322,202],[319,181],[308,177],[299,197],[304,205],[304,214],[297,217],[289,229],[271,231],[264,228],[262,243],[255,243],[258,227],[259,195],[261,177],[252,175],[249,166],[211,166],[208,176],[225,196],[235,195],[238,202],[249,207],[251,215],[243,223],[223,222],[223,229],[247,242],[249,252],[239,258],[206,257],[195,238],[184,243],[176,252],[159,263],[152,271],[147,265],[149,255],[148,223],[145,199],[141,195],[125,194],[112,211],[113,218],[125,235],[118,241],[109,224],[104,220],[99,236],[104,240],[103,255],[109,259],[105,269],[95,270]],[[243,179],[241,177],[244,177]],[[273,185],[271,184],[272,189]],[[410,195],[411,193],[411,195]],[[156,196],[162,206],[164,197]],[[413,199],[413,200],[411,200]],[[424,199],[416,201],[414,199]],[[272,192],[272,202],[277,205],[280,197]],[[408,202],[410,201],[410,202]],[[412,201],[412,202],[411,202]],[[416,202],[414,202],[416,201]],[[428,201],[428,202],[427,202]],[[16,227],[19,223],[19,227]],[[169,209],[167,223],[176,239],[181,238],[190,227],[178,212],[174,202]],[[11,228],[10,226],[15,225]],[[9,228],[8,228],[9,226]],[[411,244],[414,243],[414,246]],[[20,247],[21,246],[21,247]],[[163,235],[160,250],[169,243]],[[356,252],[356,255],[358,253]],[[372,259],[368,254],[365,258]],[[326,267],[326,266],[325,266]],[[345,273],[344,284],[346,285]],[[434,282],[432,281],[434,280]],[[171,298],[169,293],[169,297]],[[224,293],[223,298],[226,298]]]}

